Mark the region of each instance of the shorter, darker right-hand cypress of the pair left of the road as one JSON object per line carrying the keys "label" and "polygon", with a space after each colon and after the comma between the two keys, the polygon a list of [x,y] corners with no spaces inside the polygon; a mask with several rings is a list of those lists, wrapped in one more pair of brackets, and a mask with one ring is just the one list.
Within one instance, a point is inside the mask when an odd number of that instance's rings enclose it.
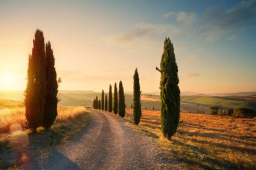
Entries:
{"label": "shorter, darker right-hand cypress of the pair left of the road", "polygon": [[57,73],[55,70],[55,59],[51,49],[51,43],[46,43],[46,103],[44,106],[43,127],[49,129],[57,117],[57,104],[58,104],[58,83]]}

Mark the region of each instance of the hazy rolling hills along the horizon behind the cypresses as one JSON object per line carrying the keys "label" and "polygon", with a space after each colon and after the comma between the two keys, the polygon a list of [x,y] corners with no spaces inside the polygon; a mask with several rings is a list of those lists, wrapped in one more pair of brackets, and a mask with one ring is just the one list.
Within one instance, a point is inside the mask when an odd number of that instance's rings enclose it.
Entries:
{"label": "hazy rolling hills along the horizon behind the cypresses", "polygon": [[[248,94],[248,93],[247,93]],[[101,99],[100,92],[84,90],[60,90],[58,94],[59,104],[63,106],[91,106],[93,99],[98,95]],[[107,93],[108,95],[108,93]],[[144,94],[141,95],[141,108],[159,110],[159,95]],[[0,99],[23,101],[24,95],[21,91],[0,91]],[[132,104],[132,94],[126,94],[126,106],[130,108]],[[256,110],[256,95],[246,96],[229,96],[217,97],[209,95],[188,95],[181,97],[180,110],[183,112],[197,112],[204,110],[208,112],[209,106],[226,107],[247,107]]]}

